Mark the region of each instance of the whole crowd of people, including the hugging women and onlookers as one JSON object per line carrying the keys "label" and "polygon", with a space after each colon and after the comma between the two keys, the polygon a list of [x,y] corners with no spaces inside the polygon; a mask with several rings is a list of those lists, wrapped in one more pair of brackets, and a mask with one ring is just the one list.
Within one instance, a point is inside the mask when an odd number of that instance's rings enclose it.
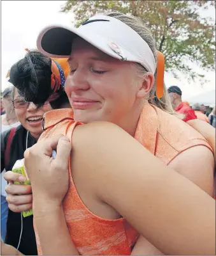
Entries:
{"label": "whole crowd of people, including the hugging women and onlookers", "polygon": [[166,89],[147,26],[104,13],[37,47],[1,98],[2,255],[214,255],[215,108]]}

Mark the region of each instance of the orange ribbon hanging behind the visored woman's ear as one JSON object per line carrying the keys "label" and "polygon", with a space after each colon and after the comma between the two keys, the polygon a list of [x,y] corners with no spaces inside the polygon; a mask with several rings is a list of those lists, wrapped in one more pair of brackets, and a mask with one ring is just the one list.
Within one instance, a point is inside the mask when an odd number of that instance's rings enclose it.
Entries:
{"label": "orange ribbon hanging behind the visored woman's ear", "polygon": [[156,95],[158,99],[162,98],[164,94],[164,67],[164,55],[162,52],[157,51]]}

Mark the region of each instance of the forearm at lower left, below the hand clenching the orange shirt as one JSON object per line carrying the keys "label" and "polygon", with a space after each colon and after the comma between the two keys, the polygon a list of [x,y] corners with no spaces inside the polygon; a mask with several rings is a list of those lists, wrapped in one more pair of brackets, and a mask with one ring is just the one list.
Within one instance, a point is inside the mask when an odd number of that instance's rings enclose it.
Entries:
{"label": "forearm at lower left, below the hand clenching the orange shirt", "polygon": [[48,214],[36,212],[34,221],[43,255],[79,255],[69,236],[62,207]]}

